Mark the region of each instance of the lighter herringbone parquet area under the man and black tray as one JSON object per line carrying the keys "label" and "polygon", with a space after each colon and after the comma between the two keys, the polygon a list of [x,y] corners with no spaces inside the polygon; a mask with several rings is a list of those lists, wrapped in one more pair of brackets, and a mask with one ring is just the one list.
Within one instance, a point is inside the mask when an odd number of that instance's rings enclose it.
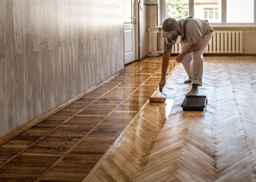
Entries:
{"label": "lighter herringbone parquet area under the man and black tray", "polygon": [[251,56],[205,58],[207,106],[183,112],[191,84],[178,65],[167,103],[147,102],[83,182],[256,182],[255,69]]}

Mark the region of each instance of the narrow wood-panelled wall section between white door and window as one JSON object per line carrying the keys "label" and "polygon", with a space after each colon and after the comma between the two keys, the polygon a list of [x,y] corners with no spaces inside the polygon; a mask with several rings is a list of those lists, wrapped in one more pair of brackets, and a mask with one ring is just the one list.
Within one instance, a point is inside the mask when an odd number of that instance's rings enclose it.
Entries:
{"label": "narrow wood-panelled wall section between white door and window", "polygon": [[[157,25],[157,5],[145,5],[143,10],[139,9],[140,12],[140,59],[149,56],[149,33],[147,29],[152,31],[158,31],[155,26]],[[157,34],[152,33],[151,35],[151,50],[157,51]],[[151,54],[151,56],[157,56]]]}

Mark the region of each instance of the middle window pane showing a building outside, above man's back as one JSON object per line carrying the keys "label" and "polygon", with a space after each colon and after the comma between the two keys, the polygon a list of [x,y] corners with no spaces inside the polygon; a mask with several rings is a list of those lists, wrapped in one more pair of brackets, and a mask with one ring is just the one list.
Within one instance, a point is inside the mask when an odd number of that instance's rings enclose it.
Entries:
{"label": "middle window pane showing a building outside, above man's back", "polygon": [[221,23],[221,0],[195,0],[195,19],[208,19],[209,23]]}

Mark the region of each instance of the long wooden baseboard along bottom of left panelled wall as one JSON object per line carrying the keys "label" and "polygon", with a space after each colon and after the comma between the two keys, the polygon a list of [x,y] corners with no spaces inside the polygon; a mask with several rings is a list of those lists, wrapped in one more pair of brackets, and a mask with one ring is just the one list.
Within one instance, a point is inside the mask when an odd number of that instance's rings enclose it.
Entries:
{"label": "long wooden baseboard along bottom of left panelled wall", "polygon": [[40,115],[39,117],[29,121],[28,123],[26,123],[23,126],[20,126],[19,128],[17,128],[16,130],[14,130],[13,132],[8,133],[7,135],[3,136],[0,138],[0,145],[5,144],[6,142],[8,142],[10,139],[16,137],[17,135],[19,135],[22,132],[25,132],[27,129],[31,128],[32,126],[35,126],[36,124],[40,123],[42,120],[48,118],[49,116],[53,115],[54,113],[57,113],[58,111],[60,111],[61,109],[63,109],[64,107],[67,107],[69,104],[73,103],[74,101],[80,99],[81,97],[83,97],[84,95],[92,92],[93,90],[95,90],[96,88],[101,87],[102,85],[104,85],[105,83],[109,82],[110,80],[112,80],[113,78],[115,78],[116,76],[120,75],[121,73],[123,73],[124,71],[126,71],[127,69],[124,68],[121,71],[115,73],[114,75],[108,77],[107,79],[103,80],[102,82],[92,86],[91,88],[88,88],[87,90],[83,91],[80,94],[77,94],[76,96],[72,97],[71,99],[67,100],[66,102],[60,104],[59,106],[54,107],[53,109],[51,109],[50,111],[48,111],[47,113],[44,113],[42,115]]}

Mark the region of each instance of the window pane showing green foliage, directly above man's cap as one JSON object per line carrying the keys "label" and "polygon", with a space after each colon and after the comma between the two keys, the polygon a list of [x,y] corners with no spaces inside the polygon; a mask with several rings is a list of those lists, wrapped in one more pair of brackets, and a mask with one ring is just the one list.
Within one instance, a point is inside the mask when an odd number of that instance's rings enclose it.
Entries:
{"label": "window pane showing green foliage, directly above man's cap", "polygon": [[165,19],[189,17],[189,0],[165,0]]}

